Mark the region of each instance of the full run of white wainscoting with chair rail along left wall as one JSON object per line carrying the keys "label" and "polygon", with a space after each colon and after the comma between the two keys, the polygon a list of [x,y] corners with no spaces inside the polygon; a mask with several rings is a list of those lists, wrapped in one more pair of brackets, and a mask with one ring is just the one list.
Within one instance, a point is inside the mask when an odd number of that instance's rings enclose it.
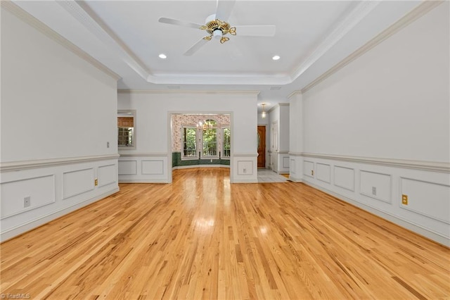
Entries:
{"label": "full run of white wainscoting with chair rail along left wall", "polygon": [[[112,154],[0,163],[0,241],[118,192],[117,158]],[[24,207],[28,197],[30,206]]]}

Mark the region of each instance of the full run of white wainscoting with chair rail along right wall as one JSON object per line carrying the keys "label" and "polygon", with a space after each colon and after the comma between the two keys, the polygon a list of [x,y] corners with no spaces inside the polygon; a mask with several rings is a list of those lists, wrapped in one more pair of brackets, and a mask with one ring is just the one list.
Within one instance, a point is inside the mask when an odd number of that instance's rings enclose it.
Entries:
{"label": "full run of white wainscoting with chair rail along right wall", "polygon": [[[291,154],[304,182],[419,235],[450,246],[450,163]],[[329,184],[327,173],[333,168]],[[299,162],[296,161],[297,168]],[[315,166],[315,177],[309,173]],[[357,175],[357,176],[356,176]],[[402,204],[402,194],[408,204]]]}

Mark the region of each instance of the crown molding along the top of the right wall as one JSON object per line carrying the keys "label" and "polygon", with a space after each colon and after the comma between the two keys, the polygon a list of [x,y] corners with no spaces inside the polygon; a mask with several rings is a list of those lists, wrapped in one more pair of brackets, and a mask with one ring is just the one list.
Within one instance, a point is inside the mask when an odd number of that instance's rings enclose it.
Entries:
{"label": "crown molding along the top of the right wall", "polygon": [[439,0],[439,1],[423,1],[421,4],[419,4],[416,8],[414,8],[412,11],[404,15],[403,18],[399,19],[396,23],[390,25],[390,27],[387,27],[383,32],[380,32],[379,35],[375,36],[373,39],[368,41],[363,46],[359,47],[359,49],[356,49],[352,54],[344,58],[342,61],[340,61],[338,64],[334,65],[332,68],[330,68],[328,71],[317,77],[315,80],[313,80],[309,85],[301,89],[301,93],[304,94],[305,92],[309,91],[309,89],[312,89],[316,85],[319,85],[323,80],[326,80],[326,78],[330,77],[334,73],[338,72],[338,70],[345,67],[345,65],[348,65],[352,61],[354,61],[356,58],[359,58],[359,56],[364,55],[366,52],[370,51],[373,47],[377,46],[381,42],[385,41],[385,39],[391,37],[395,33],[399,32],[401,29],[406,27],[407,25],[413,23],[415,20],[420,18],[421,16],[425,15],[429,11],[431,11],[433,8],[437,7],[439,4],[444,3],[445,0]]}

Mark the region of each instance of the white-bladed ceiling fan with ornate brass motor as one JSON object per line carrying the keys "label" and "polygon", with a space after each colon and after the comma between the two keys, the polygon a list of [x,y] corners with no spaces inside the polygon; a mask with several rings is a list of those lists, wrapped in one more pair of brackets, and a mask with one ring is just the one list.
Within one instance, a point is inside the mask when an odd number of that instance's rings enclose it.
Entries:
{"label": "white-bladed ceiling fan with ornate brass motor", "polygon": [[158,21],[160,23],[205,30],[208,33],[206,37],[203,37],[193,44],[193,46],[184,53],[186,56],[193,55],[213,37],[219,39],[221,44],[224,44],[224,42],[229,41],[229,37],[226,37],[228,34],[243,37],[273,37],[275,35],[275,25],[241,25],[231,27],[226,20],[228,20],[231,15],[235,2],[236,0],[217,0],[216,13],[209,15],[206,18],[205,25],[163,17]]}

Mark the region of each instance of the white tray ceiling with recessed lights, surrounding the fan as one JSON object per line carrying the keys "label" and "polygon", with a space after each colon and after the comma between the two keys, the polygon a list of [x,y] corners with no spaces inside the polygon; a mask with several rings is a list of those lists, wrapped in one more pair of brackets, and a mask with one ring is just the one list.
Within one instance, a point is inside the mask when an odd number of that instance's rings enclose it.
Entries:
{"label": "white tray ceiling with recessed lights, surrounding the fan", "polygon": [[119,89],[257,90],[266,109],[287,102],[420,3],[236,0],[231,26],[276,25],[274,37],[237,31],[224,44],[212,39],[184,56],[207,33],[158,19],[204,24],[217,0],[14,2],[120,75]]}

